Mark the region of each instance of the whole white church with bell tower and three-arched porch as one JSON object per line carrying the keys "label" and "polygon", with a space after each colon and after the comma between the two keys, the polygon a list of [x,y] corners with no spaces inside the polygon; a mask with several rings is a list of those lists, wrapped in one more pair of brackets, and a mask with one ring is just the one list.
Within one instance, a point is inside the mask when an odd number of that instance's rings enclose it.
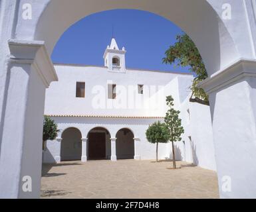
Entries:
{"label": "whole white church with bell tower and three-arched porch", "polygon": [[[145,132],[164,121],[166,96],[172,95],[185,129],[176,159],[215,170],[209,107],[190,102],[193,76],[129,69],[125,55],[112,38],[102,67],[55,64],[59,81],[47,89],[45,115],[60,131],[47,141],[43,162],[155,159],[156,145]],[[171,144],[160,144],[158,156],[171,159]]]}

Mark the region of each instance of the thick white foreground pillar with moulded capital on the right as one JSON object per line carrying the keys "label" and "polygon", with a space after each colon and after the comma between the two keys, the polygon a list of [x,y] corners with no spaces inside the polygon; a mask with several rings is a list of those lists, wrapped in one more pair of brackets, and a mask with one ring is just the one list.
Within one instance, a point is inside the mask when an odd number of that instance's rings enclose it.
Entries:
{"label": "thick white foreground pillar with moulded capital on the right", "polygon": [[256,61],[205,79],[221,198],[256,197]]}

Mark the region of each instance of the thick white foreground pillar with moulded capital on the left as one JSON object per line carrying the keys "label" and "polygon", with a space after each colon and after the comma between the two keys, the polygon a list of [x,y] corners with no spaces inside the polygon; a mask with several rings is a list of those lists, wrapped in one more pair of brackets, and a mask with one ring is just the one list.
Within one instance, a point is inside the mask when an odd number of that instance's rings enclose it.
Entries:
{"label": "thick white foreground pillar with moulded capital on the left", "polygon": [[0,198],[39,198],[45,89],[57,75],[44,42],[9,40],[9,50],[0,132]]}

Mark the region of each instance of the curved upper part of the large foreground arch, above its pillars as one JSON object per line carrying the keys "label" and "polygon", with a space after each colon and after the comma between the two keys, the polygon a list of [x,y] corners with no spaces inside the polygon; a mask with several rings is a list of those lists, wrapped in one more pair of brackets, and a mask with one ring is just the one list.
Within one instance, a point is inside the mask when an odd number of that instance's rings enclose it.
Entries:
{"label": "curved upper part of the large foreground arch, above its pillars", "polygon": [[[93,6],[88,7],[88,5]],[[49,54],[53,51],[61,34],[76,21],[100,11],[138,9],[160,15],[189,34],[203,57],[209,75],[234,62],[233,58],[239,58],[233,38],[212,5],[205,0],[150,0],[150,2],[76,0],[72,4],[68,0],[55,0],[48,1],[42,7],[40,16],[33,21],[33,31],[29,32],[29,36],[33,40],[45,40]],[[68,14],[68,16],[63,16],[63,14]],[[17,36],[28,35],[23,30],[19,31],[18,28]]]}

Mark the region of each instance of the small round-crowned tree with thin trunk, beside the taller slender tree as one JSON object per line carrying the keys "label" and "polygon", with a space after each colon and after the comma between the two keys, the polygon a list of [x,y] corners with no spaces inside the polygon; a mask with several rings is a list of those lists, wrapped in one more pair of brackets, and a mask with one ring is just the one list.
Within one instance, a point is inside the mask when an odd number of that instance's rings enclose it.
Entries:
{"label": "small round-crowned tree with thin trunk, beside the taller slender tree", "polygon": [[168,126],[158,121],[148,127],[146,137],[149,142],[156,144],[156,162],[158,162],[158,143],[167,143],[170,140]]}

